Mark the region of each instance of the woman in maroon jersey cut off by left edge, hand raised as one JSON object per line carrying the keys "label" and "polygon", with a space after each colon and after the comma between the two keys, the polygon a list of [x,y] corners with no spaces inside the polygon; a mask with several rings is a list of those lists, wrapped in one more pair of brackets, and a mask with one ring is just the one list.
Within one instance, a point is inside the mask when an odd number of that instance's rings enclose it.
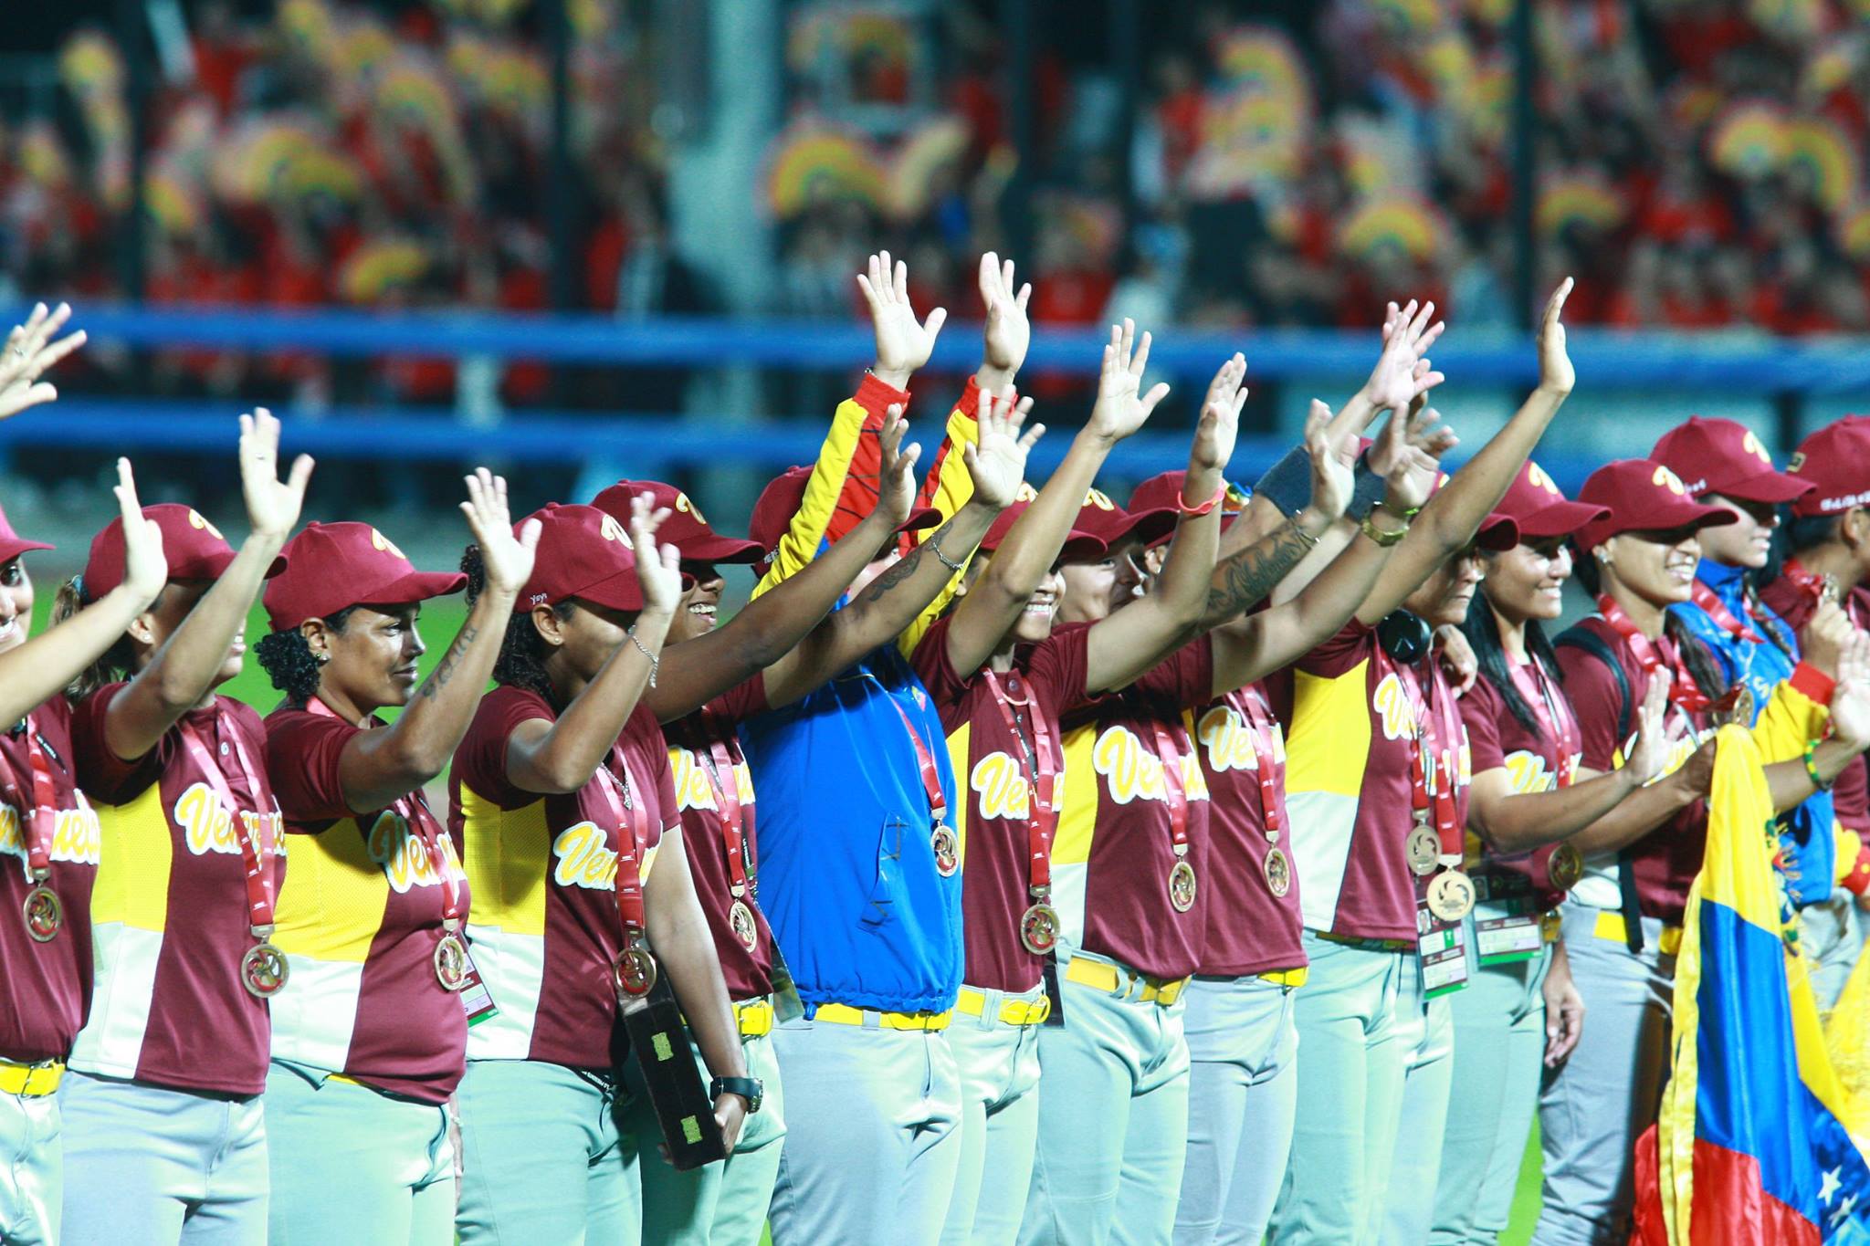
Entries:
{"label": "woman in maroon jersey cut off by left edge, hand raised", "polygon": [[92,988],[97,814],[79,790],[65,684],[163,592],[163,532],[118,460],[123,577],[60,628],[26,639],[34,588],[22,540],[0,514],[0,1240],[58,1242],[64,1218],[54,1091]]}

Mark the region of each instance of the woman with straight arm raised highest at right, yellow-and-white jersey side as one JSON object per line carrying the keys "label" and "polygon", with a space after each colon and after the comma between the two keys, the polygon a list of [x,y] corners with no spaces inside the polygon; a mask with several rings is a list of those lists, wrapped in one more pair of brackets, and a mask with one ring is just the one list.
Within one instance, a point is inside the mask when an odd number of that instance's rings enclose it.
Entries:
{"label": "woman with straight arm raised highest at right, yellow-and-white jersey side", "polygon": [[1560,321],[1569,291],[1567,280],[1541,319],[1539,387],[1419,517],[1401,514],[1404,527],[1382,532],[1397,547],[1374,588],[1294,665],[1283,717],[1309,960],[1294,998],[1307,1110],[1273,1211],[1279,1242],[1429,1235],[1453,1046],[1440,996],[1459,988],[1462,966],[1425,960],[1417,934],[1460,930],[1468,785],[1466,736],[1431,631],[1466,615],[1475,542],[1517,540],[1490,512],[1571,392]]}

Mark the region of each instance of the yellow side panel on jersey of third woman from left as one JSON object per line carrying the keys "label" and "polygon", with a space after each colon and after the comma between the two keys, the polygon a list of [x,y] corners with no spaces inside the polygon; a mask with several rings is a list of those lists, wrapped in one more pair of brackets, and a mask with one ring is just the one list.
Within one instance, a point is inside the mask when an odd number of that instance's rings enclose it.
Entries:
{"label": "yellow side panel on jersey of third woman from left", "polygon": [[357,820],[340,818],[318,835],[292,837],[273,943],[312,960],[363,964],[387,908],[383,865]]}

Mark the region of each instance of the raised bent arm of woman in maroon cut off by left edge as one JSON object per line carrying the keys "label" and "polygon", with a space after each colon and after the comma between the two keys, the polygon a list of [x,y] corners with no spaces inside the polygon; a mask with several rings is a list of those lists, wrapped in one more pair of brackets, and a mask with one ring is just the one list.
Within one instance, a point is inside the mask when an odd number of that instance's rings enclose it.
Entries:
{"label": "raised bent arm of woman in maroon cut off by left edge", "polygon": [[[129,460],[118,460],[112,488],[123,516],[123,583],[65,622],[0,654],[0,723],[17,723],[65,691],[65,686],[103,658],[129,624],[142,615],[168,583],[163,532],[142,517],[137,478]],[[26,620],[15,620],[24,630]]]}

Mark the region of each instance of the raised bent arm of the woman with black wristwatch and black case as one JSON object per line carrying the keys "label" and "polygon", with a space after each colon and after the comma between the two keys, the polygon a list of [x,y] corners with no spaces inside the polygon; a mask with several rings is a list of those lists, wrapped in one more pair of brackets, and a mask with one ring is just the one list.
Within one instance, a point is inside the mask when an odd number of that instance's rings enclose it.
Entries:
{"label": "raised bent arm of the woman with black wristwatch and black case", "polygon": [[[582,788],[610,757],[649,680],[662,682],[656,656],[683,602],[683,555],[675,545],[656,545],[656,529],[668,516],[668,510],[653,510],[649,493],[630,499],[630,549],[636,551],[636,583],[643,588],[643,609],[630,626],[636,641],[628,635],[619,641],[557,719],[535,717],[512,729],[507,777],[514,786],[542,794]],[[518,615],[509,626],[539,628],[546,644],[563,644],[559,616],[550,605],[535,605],[531,615]]]}

